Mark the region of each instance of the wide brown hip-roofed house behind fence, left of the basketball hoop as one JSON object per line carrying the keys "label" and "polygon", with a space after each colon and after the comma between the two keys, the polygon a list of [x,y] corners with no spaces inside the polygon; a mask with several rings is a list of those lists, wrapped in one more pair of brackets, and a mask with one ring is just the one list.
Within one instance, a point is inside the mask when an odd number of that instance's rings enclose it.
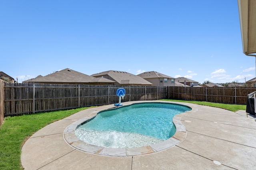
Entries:
{"label": "wide brown hip-roofed house behind fence, left of the basketball hoop", "polygon": [[106,78],[95,78],[66,68],[46,76],[37,76],[23,81],[23,83],[113,85],[115,82]]}

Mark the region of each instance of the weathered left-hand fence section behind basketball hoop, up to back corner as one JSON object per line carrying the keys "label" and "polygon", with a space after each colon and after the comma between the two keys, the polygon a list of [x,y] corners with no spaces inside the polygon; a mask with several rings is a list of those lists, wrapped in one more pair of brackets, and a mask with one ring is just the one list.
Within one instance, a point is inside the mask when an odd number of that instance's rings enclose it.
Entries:
{"label": "weathered left-hand fence section behind basketball hoop, up to back corner", "polygon": [[167,98],[163,86],[5,83],[4,116],[114,104],[118,88],[126,90],[122,102]]}

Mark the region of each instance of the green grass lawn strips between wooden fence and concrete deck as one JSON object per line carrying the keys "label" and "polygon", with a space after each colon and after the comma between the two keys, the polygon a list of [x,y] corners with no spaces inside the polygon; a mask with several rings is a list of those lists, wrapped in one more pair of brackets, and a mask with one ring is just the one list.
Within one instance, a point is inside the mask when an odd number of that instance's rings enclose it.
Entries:
{"label": "green grass lawn strips between wooden fence and concrete deck", "polygon": [[[220,107],[230,111],[245,110],[244,105],[217,104],[210,102],[196,102],[183,100],[165,100],[174,102],[187,102],[205,106]],[[20,154],[23,143],[33,133],[46,125],[68,117],[88,107],[52,111],[46,113],[35,113],[6,117],[0,129],[0,170],[21,170]]]}

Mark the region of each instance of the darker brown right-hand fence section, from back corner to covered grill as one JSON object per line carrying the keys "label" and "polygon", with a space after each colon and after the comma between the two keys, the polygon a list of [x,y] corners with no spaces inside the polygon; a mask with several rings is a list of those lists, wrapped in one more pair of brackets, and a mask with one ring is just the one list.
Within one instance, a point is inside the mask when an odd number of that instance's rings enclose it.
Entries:
{"label": "darker brown right-hand fence section, from back corner to covered grill", "polygon": [[194,100],[223,104],[246,105],[247,95],[256,88],[196,88],[168,87],[168,98],[178,100]]}

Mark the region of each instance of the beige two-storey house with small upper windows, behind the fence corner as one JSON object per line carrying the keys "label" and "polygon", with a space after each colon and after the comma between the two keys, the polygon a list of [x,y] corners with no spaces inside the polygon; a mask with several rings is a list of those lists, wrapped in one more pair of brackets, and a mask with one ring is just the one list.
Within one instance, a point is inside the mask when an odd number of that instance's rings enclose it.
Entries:
{"label": "beige two-storey house with small upper windows, behind the fence corner", "polygon": [[137,76],[140,76],[148,82],[151,82],[153,86],[175,86],[175,78],[167,76],[160,72],[143,72],[141,74],[138,74]]}

